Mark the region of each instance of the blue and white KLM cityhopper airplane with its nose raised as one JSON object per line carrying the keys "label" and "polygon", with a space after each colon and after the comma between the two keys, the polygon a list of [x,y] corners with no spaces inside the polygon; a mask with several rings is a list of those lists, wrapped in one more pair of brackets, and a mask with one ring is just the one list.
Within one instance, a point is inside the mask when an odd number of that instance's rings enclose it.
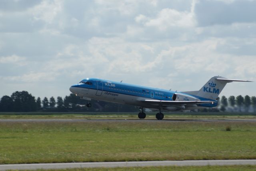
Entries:
{"label": "blue and white KLM cityhopper airplane with its nose raised", "polygon": [[[144,119],[144,108],[157,109],[156,119],[163,119],[162,111],[182,111],[216,107],[218,95],[227,83],[251,82],[247,80],[230,80],[221,76],[212,77],[198,91],[171,91],[134,84],[114,82],[97,78],[87,78],[70,87],[70,91],[82,99],[109,101],[140,107],[138,118]],[[86,104],[92,107],[91,103]]]}

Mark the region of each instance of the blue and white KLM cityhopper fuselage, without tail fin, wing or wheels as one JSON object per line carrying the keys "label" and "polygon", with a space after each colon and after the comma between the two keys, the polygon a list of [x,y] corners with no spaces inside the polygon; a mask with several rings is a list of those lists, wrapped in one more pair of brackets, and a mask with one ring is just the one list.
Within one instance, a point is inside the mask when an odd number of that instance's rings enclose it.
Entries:
{"label": "blue and white KLM cityhopper fuselage, without tail fin, wing or wheels", "polygon": [[[110,101],[114,103],[123,103],[128,105],[136,105],[144,108],[151,109],[163,109],[163,110],[188,110],[198,109],[202,107],[214,107],[217,105],[217,101],[214,104],[197,104],[186,105],[186,107],[173,105],[173,106],[161,106],[142,102],[143,100],[161,100],[161,101],[173,101],[174,94],[179,93],[198,100],[209,100],[202,97],[191,96],[186,93],[170,91],[165,89],[158,89],[153,87],[145,87],[140,85],[126,84],[122,82],[114,82],[109,80],[102,80],[96,78],[88,78],[82,80],[78,84],[74,84],[70,87],[70,91],[84,99],[96,99],[102,101]],[[182,101],[193,101],[190,98],[183,98]]]}

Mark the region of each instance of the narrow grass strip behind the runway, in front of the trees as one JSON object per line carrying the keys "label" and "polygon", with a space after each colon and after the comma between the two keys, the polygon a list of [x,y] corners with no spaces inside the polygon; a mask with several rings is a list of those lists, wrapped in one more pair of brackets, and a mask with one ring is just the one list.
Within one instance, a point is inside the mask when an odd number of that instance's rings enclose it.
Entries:
{"label": "narrow grass strip behind the runway, in front of the trees", "polygon": [[[156,119],[156,112],[146,114],[146,119]],[[256,113],[164,112],[164,114],[164,119],[256,119]],[[138,113],[0,112],[0,119],[138,119]]]}

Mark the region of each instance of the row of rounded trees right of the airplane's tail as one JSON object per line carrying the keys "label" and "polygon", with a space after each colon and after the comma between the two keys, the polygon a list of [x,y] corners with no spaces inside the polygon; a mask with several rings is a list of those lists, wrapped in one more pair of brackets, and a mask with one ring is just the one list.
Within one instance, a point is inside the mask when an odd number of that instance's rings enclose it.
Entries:
{"label": "row of rounded trees right of the airplane's tail", "polygon": [[242,108],[244,111],[248,112],[250,107],[253,108],[254,111],[256,111],[256,97],[249,95],[242,96],[238,95],[237,97],[234,97],[233,95],[228,97],[228,99],[223,95],[221,97],[221,105],[220,110],[226,111],[227,107],[230,106],[232,109],[234,109],[236,106],[238,107],[239,111],[242,111]]}

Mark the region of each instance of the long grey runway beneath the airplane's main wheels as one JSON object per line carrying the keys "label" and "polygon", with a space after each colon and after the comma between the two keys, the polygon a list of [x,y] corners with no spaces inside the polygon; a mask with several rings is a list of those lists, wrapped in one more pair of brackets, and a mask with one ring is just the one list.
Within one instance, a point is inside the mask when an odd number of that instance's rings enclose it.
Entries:
{"label": "long grey runway beneath the airplane's main wheels", "polygon": [[0,122],[98,122],[98,121],[113,121],[113,122],[177,122],[177,121],[195,121],[195,122],[256,122],[256,119],[0,119]]}

